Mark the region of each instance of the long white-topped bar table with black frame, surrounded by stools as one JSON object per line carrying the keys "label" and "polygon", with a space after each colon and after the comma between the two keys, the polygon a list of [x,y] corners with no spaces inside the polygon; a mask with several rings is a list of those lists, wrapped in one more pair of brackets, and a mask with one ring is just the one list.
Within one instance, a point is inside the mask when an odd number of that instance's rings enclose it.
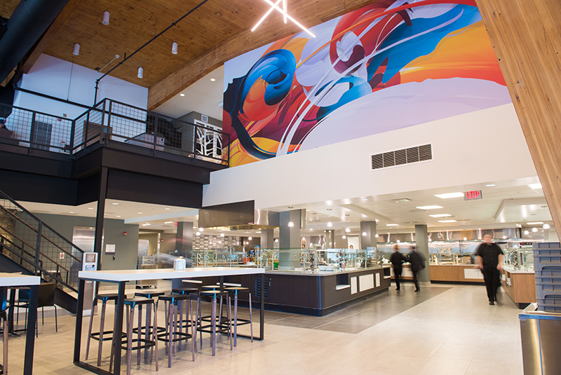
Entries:
{"label": "long white-topped bar table with black frame, surrounded by stools", "polygon": [[[130,281],[140,280],[159,280],[159,279],[188,279],[202,278],[208,276],[219,276],[222,285],[224,276],[231,275],[260,275],[261,285],[264,287],[265,269],[264,268],[242,268],[242,267],[197,267],[187,268],[182,271],[175,271],[173,268],[144,269],[144,270],[111,270],[111,271],[80,271],[78,277],[80,279],[78,289],[78,313],[76,313],[76,334],[74,336],[74,364],[83,369],[87,369],[95,374],[109,375],[121,374],[121,346],[117,346],[115,350],[115,366],[114,372],[101,369],[80,360],[81,338],[82,338],[82,320],[83,320],[83,296],[86,280],[114,282],[119,284],[119,298],[117,299],[117,322],[116,337],[123,335],[123,306],[125,301],[125,286]],[[264,339],[264,311],[265,300],[261,293],[261,310],[259,322],[259,337],[257,340]],[[92,311],[93,313],[93,311]]]}

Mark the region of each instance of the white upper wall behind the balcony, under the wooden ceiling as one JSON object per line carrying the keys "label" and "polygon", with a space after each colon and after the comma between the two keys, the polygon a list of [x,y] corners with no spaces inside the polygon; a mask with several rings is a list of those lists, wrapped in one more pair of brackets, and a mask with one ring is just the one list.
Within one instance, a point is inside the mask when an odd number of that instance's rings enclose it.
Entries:
{"label": "white upper wall behind the balcony, under the wooden ceiling", "polygon": [[[100,62],[100,67],[104,64],[104,62]],[[114,64],[111,64],[111,66],[114,66]],[[107,68],[105,71],[107,71]],[[43,54],[29,71],[29,74],[22,76],[19,85],[27,90],[92,107],[94,104],[95,80],[102,75],[95,70]],[[104,97],[146,109],[148,88],[106,76],[100,81],[99,90],[97,90],[97,102]],[[83,107],[22,93],[21,91],[15,92],[14,105],[55,116],[62,117],[63,114],[67,114],[67,118],[76,118],[86,111]]]}

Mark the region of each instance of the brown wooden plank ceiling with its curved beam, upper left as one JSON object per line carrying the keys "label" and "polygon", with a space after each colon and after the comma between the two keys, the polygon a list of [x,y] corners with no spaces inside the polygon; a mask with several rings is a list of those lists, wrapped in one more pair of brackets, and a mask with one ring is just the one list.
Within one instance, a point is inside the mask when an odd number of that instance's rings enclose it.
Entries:
{"label": "brown wooden plank ceiling with its curved beam, upper left", "polygon": [[[38,43],[28,55],[24,61],[25,71],[29,71],[41,53],[72,61],[89,69],[100,69],[115,55],[120,55],[119,60],[102,71],[107,72],[123,60],[126,54],[133,53],[201,1],[203,0],[70,1],[69,6],[74,7],[72,12],[58,18],[57,27],[50,29],[45,40]],[[303,25],[312,27],[375,1],[377,0],[289,0],[288,10]],[[2,1],[0,10],[9,8],[5,3],[6,0]],[[17,4],[18,1],[8,0],[7,3]],[[259,26],[257,32],[250,32],[269,8],[262,0],[208,0],[112,71],[111,76],[150,88],[149,107],[153,109],[225,61],[299,32],[297,26],[291,22],[284,24],[282,16],[275,13]],[[107,26],[102,25],[104,11],[111,13]],[[179,44],[177,55],[171,53],[174,41]],[[79,56],[72,55],[74,43],[80,44]],[[138,67],[144,68],[143,79],[137,78]]]}

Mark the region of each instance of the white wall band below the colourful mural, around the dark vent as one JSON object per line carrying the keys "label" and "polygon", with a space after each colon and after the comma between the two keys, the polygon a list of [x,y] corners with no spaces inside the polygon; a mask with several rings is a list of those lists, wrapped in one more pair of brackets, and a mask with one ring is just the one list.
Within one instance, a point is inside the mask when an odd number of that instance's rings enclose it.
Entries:
{"label": "white wall band below the colourful mural, around the dark vent", "polygon": [[[431,143],[433,161],[370,170],[370,156]],[[341,176],[330,179],[330,176]],[[513,104],[212,172],[203,205],[255,208],[535,177]]]}

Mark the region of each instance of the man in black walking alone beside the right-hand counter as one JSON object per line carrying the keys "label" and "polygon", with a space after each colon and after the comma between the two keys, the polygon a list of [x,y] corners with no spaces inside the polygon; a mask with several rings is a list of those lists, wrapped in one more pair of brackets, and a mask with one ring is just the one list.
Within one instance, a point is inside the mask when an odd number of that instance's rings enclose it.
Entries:
{"label": "man in black walking alone beside the right-hand counter", "polygon": [[492,243],[492,236],[485,234],[483,243],[475,250],[475,268],[480,268],[487,287],[489,305],[496,302],[496,290],[501,285],[501,268],[503,264],[503,250],[496,243]]}

